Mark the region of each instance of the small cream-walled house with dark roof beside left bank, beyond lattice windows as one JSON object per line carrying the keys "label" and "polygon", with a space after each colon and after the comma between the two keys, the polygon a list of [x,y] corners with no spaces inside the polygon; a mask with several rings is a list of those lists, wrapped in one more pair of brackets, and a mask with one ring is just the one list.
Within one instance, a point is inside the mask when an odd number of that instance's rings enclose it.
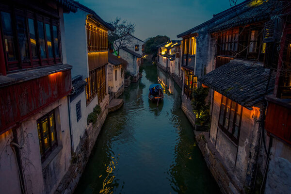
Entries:
{"label": "small cream-walled house with dark roof beside left bank, beyond lattice windows", "polygon": [[124,91],[124,72],[128,62],[111,53],[108,53],[108,61],[108,92],[117,98]]}

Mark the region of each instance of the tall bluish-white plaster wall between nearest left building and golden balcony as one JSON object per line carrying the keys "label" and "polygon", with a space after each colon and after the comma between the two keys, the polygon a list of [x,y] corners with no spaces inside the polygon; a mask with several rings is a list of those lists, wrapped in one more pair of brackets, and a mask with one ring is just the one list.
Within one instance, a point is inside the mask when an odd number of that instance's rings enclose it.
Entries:
{"label": "tall bluish-white plaster wall between nearest left building and golden balcony", "polygon": [[86,16],[87,12],[78,9],[77,13],[64,14],[65,20],[65,47],[67,52],[67,63],[73,65],[72,77],[83,75],[89,77]]}

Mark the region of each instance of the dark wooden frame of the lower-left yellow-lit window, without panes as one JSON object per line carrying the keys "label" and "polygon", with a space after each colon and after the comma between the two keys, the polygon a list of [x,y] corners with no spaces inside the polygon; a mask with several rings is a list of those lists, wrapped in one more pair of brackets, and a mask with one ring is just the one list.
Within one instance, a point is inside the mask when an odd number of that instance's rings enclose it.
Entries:
{"label": "dark wooden frame of the lower-left yellow-lit window, without panes", "polygon": [[[42,128],[42,125],[41,125],[41,122],[45,119],[48,119],[48,123],[49,123],[49,116],[50,115],[53,115],[53,122],[54,122],[54,134],[55,134],[55,144],[54,145],[51,145],[51,130],[50,130],[50,125],[48,125],[48,140],[49,140],[49,149],[47,151],[45,151],[45,146],[44,146],[44,136],[43,136],[43,128]],[[42,116],[41,118],[37,119],[36,123],[37,125],[39,125],[39,130],[38,131],[38,138],[41,138],[41,140],[39,140],[39,143],[41,141],[41,146],[40,146],[40,149],[42,149],[42,153],[41,154],[41,161],[44,162],[48,157],[49,157],[49,154],[58,146],[58,138],[57,138],[57,129],[56,129],[56,121],[55,121],[56,117],[55,117],[55,111],[52,110],[50,111],[49,113],[45,114],[44,116]]]}

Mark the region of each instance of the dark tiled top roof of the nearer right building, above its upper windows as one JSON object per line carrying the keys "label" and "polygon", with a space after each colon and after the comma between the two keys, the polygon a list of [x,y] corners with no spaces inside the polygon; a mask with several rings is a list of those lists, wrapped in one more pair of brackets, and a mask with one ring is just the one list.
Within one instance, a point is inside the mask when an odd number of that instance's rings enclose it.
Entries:
{"label": "dark tiled top roof of the nearer right building, above its upper windows", "polygon": [[263,1],[248,11],[211,28],[209,32],[218,32],[231,27],[269,20],[272,15],[278,15],[283,10],[285,4],[283,1],[277,0]]}

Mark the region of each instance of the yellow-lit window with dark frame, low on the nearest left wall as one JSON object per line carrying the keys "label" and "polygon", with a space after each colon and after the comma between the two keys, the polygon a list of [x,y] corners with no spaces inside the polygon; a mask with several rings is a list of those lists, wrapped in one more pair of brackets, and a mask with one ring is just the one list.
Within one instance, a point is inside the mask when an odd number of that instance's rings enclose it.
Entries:
{"label": "yellow-lit window with dark frame, low on the nearest left wall", "polygon": [[37,120],[39,148],[42,162],[58,145],[54,111]]}

